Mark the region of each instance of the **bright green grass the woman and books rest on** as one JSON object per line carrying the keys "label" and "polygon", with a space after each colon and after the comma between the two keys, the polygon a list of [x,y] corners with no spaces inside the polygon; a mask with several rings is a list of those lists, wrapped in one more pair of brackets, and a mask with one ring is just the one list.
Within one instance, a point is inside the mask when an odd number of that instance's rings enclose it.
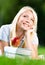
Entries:
{"label": "bright green grass the woman and books rest on", "polygon": [[[45,47],[39,47],[39,54],[45,55]],[[26,56],[18,55],[15,59],[0,56],[0,65],[45,65],[45,60],[32,60]]]}

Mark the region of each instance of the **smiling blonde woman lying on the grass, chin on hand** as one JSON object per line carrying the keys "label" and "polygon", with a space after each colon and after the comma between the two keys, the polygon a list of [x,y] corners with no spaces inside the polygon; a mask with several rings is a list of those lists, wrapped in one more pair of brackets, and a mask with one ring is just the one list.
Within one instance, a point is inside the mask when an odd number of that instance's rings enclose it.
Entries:
{"label": "smiling blonde woman lying on the grass, chin on hand", "polygon": [[12,23],[1,26],[0,30],[1,53],[5,46],[12,45],[27,48],[32,51],[32,58],[38,57],[37,14],[33,8],[23,7]]}

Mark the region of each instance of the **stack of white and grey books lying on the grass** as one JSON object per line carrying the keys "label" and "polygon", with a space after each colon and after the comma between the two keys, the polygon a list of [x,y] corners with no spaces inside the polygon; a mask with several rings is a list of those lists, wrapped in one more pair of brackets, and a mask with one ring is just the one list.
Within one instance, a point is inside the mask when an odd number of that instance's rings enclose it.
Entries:
{"label": "stack of white and grey books lying on the grass", "polygon": [[15,58],[16,55],[31,56],[31,50],[20,47],[18,48],[18,47],[6,46],[4,47],[4,55],[9,58]]}

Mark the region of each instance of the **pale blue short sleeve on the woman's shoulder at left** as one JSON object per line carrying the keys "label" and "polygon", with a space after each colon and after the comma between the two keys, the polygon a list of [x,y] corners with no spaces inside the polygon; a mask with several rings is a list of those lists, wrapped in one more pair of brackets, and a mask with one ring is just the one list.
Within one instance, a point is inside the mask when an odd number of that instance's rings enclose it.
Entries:
{"label": "pale blue short sleeve on the woman's shoulder at left", "polygon": [[0,28],[0,40],[6,41],[6,42],[9,41],[9,30],[8,30],[8,27],[5,25],[1,26]]}

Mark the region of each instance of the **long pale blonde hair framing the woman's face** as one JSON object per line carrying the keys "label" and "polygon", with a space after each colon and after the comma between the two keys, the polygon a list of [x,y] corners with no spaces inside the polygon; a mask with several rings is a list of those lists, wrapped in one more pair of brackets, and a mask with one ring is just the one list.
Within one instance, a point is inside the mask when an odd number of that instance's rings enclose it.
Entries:
{"label": "long pale blonde hair framing the woman's face", "polygon": [[32,7],[29,6],[24,6],[23,8],[21,8],[19,10],[19,12],[17,13],[17,15],[14,17],[13,21],[12,21],[12,25],[11,25],[11,29],[10,29],[10,38],[14,38],[16,37],[16,23],[20,17],[20,15],[22,13],[24,13],[26,10],[31,10],[34,14],[34,31],[37,31],[37,13],[35,12],[35,10]]}

